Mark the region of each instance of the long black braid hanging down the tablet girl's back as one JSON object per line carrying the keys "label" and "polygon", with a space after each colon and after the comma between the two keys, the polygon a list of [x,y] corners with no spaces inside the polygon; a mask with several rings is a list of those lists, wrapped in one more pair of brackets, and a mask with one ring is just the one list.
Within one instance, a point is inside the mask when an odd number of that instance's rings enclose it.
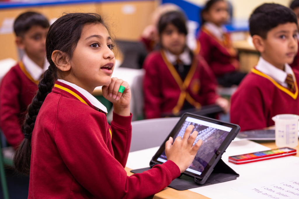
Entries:
{"label": "long black braid hanging down the tablet girl's back", "polygon": [[13,159],[13,163],[16,170],[20,173],[29,175],[30,171],[30,158],[31,158],[31,135],[36,121],[37,114],[39,112],[42,103],[45,101],[46,96],[51,92],[54,86],[54,80],[56,74],[56,67],[49,66],[45,71],[42,80],[38,84],[38,90],[31,104],[28,106],[28,113],[24,124],[22,126],[22,132],[25,138],[16,151]]}

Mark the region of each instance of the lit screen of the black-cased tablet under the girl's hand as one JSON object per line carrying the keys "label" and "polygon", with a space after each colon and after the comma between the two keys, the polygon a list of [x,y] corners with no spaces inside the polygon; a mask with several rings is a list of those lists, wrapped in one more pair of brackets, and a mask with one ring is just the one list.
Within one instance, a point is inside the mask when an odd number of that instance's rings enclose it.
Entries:
{"label": "lit screen of the black-cased tablet under the girl's hand", "polygon": [[[177,136],[183,137],[186,128],[190,125],[194,125],[193,131],[197,131],[198,135],[193,145],[202,140],[202,146],[200,146],[192,164],[187,171],[200,175],[205,169],[213,155],[218,151],[219,146],[225,140],[228,133],[232,130],[230,127],[225,127],[219,124],[199,120],[196,118],[187,117],[184,123],[181,125],[180,130],[175,134],[173,139]],[[165,151],[157,159],[160,162],[166,162],[167,158]]]}

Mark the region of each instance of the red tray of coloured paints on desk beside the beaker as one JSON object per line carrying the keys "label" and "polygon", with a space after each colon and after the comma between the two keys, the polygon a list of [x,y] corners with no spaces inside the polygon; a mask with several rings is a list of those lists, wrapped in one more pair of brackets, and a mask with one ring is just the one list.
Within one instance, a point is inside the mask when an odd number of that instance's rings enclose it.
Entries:
{"label": "red tray of coloured paints on desk beside the beaker", "polygon": [[250,162],[257,162],[262,160],[269,160],[273,158],[280,158],[289,155],[296,155],[296,149],[283,147],[279,149],[271,149],[268,151],[260,151],[254,153],[247,153],[242,155],[234,155],[228,157],[228,161],[234,164],[245,164]]}

